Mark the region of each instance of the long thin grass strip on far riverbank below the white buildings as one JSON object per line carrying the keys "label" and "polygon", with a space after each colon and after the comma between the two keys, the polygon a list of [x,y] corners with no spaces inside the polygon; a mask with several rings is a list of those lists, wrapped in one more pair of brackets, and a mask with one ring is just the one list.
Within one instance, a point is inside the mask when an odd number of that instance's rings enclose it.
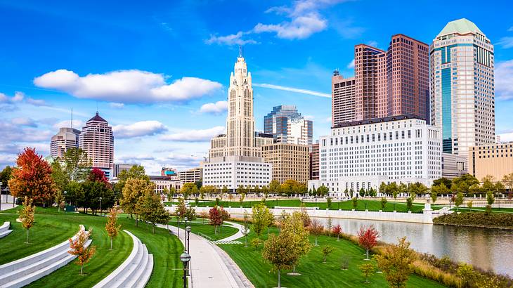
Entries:
{"label": "long thin grass strip on far riverbank below the white buildings", "polygon": [[[260,200],[257,201],[245,201],[240,202],[237,201],[221,201],[219,202],[219,206],[222,207],[244,207],[244,208],[251,208],[254,206],[254,204],[261,203]],[[166,202],[167,205],[169,204],[178,204],[177,202]],[[326,202],[303,202],[305,207],[319,207],[319,209],[327,209],[327,203]],[[365,206],[366,204],[366,206]],[[408,207],[404,202],[388,202],[387,205],[385,205],[385,209],[383,211],[394,211],[394,204],[395,209],[398,212],[408,212]],[[195,202],[191,202],[191,205],[196,206]],[[214,207],[215,202],[214,201],[204,201],[199,202],[197,204],[198,207]],[[301,200],[299,199],[285,199],[285,200],[273,200],[268,199],[266,201],[266,206],[269,208],[274,208],[276,206],[278,207],[300,207],[301,206]],[[378,200],[358,200],[358,206],[356,207],[356,210],[358,211],[365,211],[365,208],[367,208],[369,211],[379,211],[382,210],[381,207],[381,201]],[[353,209],[353,202],[352,201],[342,201],[342,202],[332,202],[331,210],[351,210]],[[412,213],[422,213],[422,209],[424,209],[424,204],[422,203],[413,203],[412,207]],[[441,209],[439,206],[433,206],[431,205],[431,209],[438,210]]]}

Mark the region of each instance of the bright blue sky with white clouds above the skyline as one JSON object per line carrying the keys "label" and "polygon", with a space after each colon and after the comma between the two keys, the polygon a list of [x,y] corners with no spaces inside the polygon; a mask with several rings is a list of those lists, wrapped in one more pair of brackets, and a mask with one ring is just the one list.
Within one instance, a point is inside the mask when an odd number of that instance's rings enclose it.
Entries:
{"label": "bright blue sky with white clouds above the skyline", "polygon": [[255,130],[273,106],[297,105],[318,139],[330,131],[332,72],[353,76],[354,45],[387,49],[398,33],[431,44],[459,18],[495,45],[496,131],[513,140],[513,7],[483,3],[0,0],[0,167],[26,146],[48,155],[71,109],[74,128],[96,111],[109,122],[116,163],[197,166],[224,131],[239,45]]}

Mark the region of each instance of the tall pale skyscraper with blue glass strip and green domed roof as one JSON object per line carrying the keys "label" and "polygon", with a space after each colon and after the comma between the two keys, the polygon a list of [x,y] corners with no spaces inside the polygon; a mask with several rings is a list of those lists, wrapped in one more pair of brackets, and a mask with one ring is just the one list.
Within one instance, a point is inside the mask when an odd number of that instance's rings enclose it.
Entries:
{"label": "tall pale skyscraper with blue glass strip and green domed roof", "polygon": [[493,45],[467,19],[448,22],[430,48],[431,124],[441,127],[443,152],[467,155],[495,143]]}

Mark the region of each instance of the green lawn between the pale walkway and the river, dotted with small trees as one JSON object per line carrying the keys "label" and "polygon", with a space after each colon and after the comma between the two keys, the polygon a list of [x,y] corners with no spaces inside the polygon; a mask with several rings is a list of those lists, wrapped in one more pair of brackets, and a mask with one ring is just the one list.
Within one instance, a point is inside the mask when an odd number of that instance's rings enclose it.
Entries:
{"label": "green lawn between the pale walkway and the river, dotted with small trees", "polygon": [[[277,228],[271,228],[271,233],[278,233]],[[251,232],[248,242],[253,237],[256,235]],[[263,233],[262,239],[266,238],[267,233]],[[311,237],[310,242],[314,242],[314,237]],[[296,272],[301,275],[290,276],[286,275],[290,271],[282,271],[281,284],[283,287],[389,287],[384,274],[380,273],[372,274],[369,277],[370,283],[364,283],[365,278],[361,275],[358,266],[369,262],[363,260],[365,250],[361,247],[347,240],[341,239],[337,242],[336,238],[327,236],[318,237],[318,243],[319,246],[313,247],[307,256],[301,258],[299,266],[296,268]],[[327,257],[327,263],[323,263],[321,249],[326,244],[332,246],[334,251]],[[245,248],[242,244],[219,244],[219,247],[230,255],[255,287],[276,287],[278,284],[278,273],[271,271],[271,264],[262,258],[261,248]],[[340,268],[342,256],[350,258],[348,270]],[[417,275],[410,275],[407,287],[444,286]]]}

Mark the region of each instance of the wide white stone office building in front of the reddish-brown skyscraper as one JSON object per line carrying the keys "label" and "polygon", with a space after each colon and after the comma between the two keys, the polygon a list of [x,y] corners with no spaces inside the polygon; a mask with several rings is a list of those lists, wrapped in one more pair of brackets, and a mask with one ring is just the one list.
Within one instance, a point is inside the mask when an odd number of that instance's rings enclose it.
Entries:
{"label": "wide white stone office building in front of the reddish-brown skyscraper", "polygon": [[384,183],[424,183],[441,178],[440,129],[414,114],[344,122],[320,137],[319,180],[330,195],[378,189]]}

